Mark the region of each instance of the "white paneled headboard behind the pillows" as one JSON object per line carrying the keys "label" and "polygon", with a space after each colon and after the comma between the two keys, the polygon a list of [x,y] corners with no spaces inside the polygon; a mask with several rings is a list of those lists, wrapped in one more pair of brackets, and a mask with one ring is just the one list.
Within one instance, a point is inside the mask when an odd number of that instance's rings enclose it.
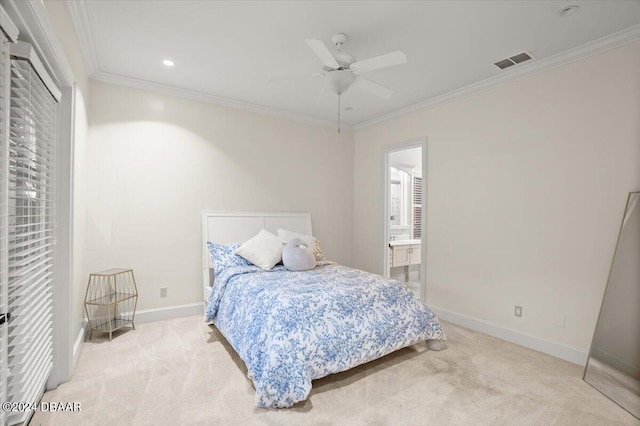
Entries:
{"label": "white paneled headboard behind the pillows", "polygon": [[312,235],[309,213],[202,212],[202,265],[204,285],[209,285],[211,260],[207,241],[240,244],[262,229],[277,233],[278,228]]}

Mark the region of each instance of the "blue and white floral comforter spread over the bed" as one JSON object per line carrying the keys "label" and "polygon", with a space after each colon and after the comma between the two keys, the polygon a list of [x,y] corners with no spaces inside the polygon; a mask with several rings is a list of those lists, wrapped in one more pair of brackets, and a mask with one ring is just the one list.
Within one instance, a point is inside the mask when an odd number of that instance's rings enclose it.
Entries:
{"label": "blue and white floral comforter spread over the bed", "polygon": [[446,339],[403,284],[335,263],[304,272],[227,268],[216,277],[206,320],[247,365],[260,407],[290,407],[307,398],[314,379]]}

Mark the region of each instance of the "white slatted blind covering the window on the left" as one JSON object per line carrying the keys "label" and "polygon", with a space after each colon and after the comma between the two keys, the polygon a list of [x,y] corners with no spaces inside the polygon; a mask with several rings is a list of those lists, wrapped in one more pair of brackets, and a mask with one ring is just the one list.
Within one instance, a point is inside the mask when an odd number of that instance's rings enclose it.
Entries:
{"label": "white slatted blind covering the window on the left", "polygon": [[[36,402],[52,368],[56,103],[31,64],[10,61],[8,400]],[[8,416],[22,423],[30,412]]]}

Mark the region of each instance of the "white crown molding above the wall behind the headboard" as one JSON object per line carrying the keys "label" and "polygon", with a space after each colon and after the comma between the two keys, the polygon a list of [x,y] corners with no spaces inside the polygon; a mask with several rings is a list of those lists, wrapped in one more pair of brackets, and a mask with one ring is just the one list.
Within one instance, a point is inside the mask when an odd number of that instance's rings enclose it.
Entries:
{"label": "white crown molding above the wall behind the headboard", "polygon": [[[119,74],[107,73],[98,71],[95,75],[91,76],[92,80],[101,81],[104,83],[117,84],[120,86],[132,87],[134,89],[146,90],[164,95],[176,96],[178,98],[190,99],[199,102],[206,102],[214,105],[219,105],[227,108],[239,109],[243,111],[255,112],[258,114],[269,115],[272,117],[283,118],[285,120],[296,121],[305,124],[312,124],[314,126],[326,127],[335,129],[336,123],[333,121],[320,120],[317,118],[309,117],[304,114],[296,114],[289,111],[280,110],[273,107],[267,107],[258,104],[252,104],[250,102],[237,101],[235,99],[225,98],[222,96],[210,95],[195,90],[183,89],[180,87],[169,86],[166,84],[154,83],[147,80],[141,80],[137,78],[126,77]],[[341,125],[341,131],[352,132],[353,127],[350,125]]]}

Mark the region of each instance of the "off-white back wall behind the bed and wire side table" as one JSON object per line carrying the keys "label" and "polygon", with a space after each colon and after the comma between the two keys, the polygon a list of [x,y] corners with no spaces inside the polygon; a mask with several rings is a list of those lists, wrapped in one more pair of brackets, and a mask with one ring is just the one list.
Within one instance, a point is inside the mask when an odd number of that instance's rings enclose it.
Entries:
{"label": "off-white back wall behind the bed and wire side table", "polygon": [[139,310],[202,301],[205,209],[310,212],[351,262],[352,134],[93,81],[89,121],[85,264],[133,268]]}

